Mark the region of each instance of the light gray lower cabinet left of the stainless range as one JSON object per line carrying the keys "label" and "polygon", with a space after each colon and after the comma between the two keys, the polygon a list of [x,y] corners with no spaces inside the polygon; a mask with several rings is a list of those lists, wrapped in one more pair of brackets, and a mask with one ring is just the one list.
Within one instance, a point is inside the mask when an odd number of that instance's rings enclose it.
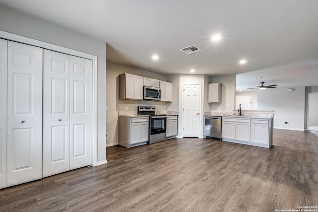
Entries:
{"label": "light gray lower cabinet left of the stainless range", "polygon": [[119,116],[118,144],[127,148],[149,141],[149,117]]}

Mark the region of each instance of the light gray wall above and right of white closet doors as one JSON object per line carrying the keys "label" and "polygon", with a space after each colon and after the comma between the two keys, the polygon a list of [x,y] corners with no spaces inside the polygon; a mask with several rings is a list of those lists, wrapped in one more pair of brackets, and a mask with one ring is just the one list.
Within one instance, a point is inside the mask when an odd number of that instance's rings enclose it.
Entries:
{"label": "light gray wall above and right of white closet doors", "polygon": [[106,42],[0,5],[0,30],[77,50],[97,61],[97,162],[106,160]]}

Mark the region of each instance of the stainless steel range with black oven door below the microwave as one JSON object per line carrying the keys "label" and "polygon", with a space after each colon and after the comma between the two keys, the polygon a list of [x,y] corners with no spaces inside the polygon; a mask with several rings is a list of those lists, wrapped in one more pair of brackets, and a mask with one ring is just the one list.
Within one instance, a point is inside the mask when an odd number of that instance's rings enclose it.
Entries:
{"label": "stainless steel range with black oven door below the microwave", "polygon": [[149,115],[149,144],[165,141],[167,116],[156,115],[155,111],[155,106],[138,106],[138,114]]}

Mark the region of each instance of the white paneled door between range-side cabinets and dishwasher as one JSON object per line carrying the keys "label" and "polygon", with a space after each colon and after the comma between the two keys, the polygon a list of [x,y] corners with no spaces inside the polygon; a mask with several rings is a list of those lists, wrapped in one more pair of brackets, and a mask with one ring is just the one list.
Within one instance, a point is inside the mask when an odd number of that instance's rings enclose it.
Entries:
{"label": "white paneled door between range-side cabinets and dishwasher", "polygon": [[183,84],[183,137],[199,137],[201,84]]}

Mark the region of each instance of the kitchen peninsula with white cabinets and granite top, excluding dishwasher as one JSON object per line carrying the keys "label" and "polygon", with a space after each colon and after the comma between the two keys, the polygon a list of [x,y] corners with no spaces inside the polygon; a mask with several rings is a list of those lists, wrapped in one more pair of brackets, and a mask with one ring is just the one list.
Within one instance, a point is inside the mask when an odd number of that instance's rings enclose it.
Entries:
{"label": "kitchen peninsula with white cabinets and granite top, excluding dishwasher", "polygon": [[222,140],[270,148],[273,145],[274,111],[211,111],[205,116],[222,117]]}

